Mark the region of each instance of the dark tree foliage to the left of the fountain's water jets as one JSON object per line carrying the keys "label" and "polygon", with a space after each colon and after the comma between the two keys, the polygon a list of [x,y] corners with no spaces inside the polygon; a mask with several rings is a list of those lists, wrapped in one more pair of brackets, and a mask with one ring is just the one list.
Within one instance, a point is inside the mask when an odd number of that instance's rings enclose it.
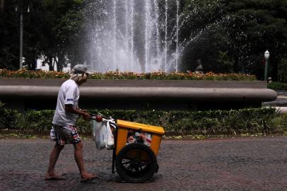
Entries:
{"label": "dark tree foliage to the left of the fountain's water jets", "polygon": [[18,69],[19,14],[23,11],[23,65],[35,69],[37,58],[43,56],[50,69],[57,62],[61,70],[66,65],[66,47],[75,36],[74,26],[81,25],[74,16],[81,4],[80,0],[5,1],[0,11],[0,68]]}

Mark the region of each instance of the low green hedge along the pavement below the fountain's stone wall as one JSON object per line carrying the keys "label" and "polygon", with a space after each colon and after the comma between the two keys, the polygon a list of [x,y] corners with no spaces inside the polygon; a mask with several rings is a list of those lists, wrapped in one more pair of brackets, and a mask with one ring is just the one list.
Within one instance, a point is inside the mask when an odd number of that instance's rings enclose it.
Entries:
{"label": "low green hedge along the pavement below the fountain's stone wall", "polygon": [[[272,108],[215,111],[136,111],[90,110],[112,116],[115,120],[128,120],[164,127],[172,134],[242,134],[286,131],[287,115],[279,115]],[[0,110],[0,129],[16,129],[22,132],[48,133],[52,127],[54,110]],[[90,134],[90,122],[79,117],[76,122],[81,134]]]}

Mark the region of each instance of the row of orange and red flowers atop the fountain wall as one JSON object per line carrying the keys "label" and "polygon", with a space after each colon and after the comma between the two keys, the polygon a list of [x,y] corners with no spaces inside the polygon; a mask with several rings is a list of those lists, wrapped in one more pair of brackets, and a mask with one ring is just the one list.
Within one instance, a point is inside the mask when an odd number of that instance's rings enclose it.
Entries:
{"label": "row of orange and red flowers atop the fountain wall", "polygon": [[[21,69],[11,71],[0,69],[1,79],[69,79],[69,73],[60,71],[30,71]],[[212,71],[206,74],[196,72],[165,73],[163,71],[154,71],[151,73],[119,72],[107,71],[105,73],[94,72],[90,74],[89,79],[156,79],[156,80],[233,80],[233,81],[254,81],[256,77],[250,74],[214,74]]]}

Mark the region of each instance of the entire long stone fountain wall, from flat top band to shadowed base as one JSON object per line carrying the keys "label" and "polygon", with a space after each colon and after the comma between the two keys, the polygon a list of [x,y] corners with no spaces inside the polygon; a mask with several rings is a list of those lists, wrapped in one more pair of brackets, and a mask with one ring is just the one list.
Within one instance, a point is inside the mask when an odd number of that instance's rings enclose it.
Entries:
{"label": "entire long stone fountain wall, from flat top band to shadowed base", "polygon": [[[0,100],[21,110],[52,109],[65,79],[0,79]],[[259,107],[275,100],[265,81],[88,80],[82,108],[208,110]]]}

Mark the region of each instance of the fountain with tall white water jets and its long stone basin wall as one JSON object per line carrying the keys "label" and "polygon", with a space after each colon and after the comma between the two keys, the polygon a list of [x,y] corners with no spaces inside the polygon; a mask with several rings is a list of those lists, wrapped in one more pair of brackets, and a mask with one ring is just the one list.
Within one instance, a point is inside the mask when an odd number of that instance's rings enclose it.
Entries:
{"label": "fountain with tall white water jets and its long stone basin wall", "polygon": [[[185,25],[179,0],[90,2],[85,17],[90,40],[84,43],[83,54],[91,70],[102,72],[180,71],[180,55],[185,48],[202,43],[201,35],[225,19],[209,23],[179,43],[179,29]],[[194,8],[194,12],[199,9]],[[0,79],[0,98],[10,108],[54,109],[64,81]],[[81,105],[90,109],[229,110],[261,107],[262,102],[276,96],[266,88],[266,81],[90,79],[81,86]]]}

